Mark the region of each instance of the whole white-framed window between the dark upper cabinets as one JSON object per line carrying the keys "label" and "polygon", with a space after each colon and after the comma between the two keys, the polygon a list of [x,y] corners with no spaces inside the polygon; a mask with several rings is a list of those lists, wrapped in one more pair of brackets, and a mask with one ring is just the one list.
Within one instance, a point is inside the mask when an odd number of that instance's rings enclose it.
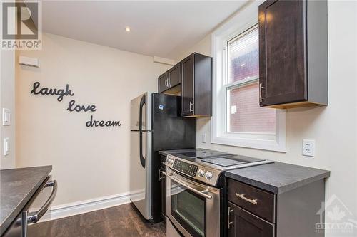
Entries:
{"label": "whole white-framed window between the dark upper cabinets", "polygon": [[212,35],[212,143],[285,152],[285,111],[259,106],[256,9],[246,8]]}

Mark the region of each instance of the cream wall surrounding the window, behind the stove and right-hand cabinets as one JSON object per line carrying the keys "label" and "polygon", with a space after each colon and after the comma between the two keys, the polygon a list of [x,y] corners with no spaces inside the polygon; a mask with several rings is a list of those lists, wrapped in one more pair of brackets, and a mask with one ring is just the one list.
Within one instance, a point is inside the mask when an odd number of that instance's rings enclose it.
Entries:
{"label": "cream wall surrounding the window, behind the stove and right-hand cabinets", "polygon": [[[211,137],[209,118],[197,120],[196,146],[331,171],[326,198],[336,194],[357,220],[357,2],[328,2],[329,105],[287,111],[286,153],[202,143]],[[239,14],[239,12],[237,13]],[[178,60],[196,51],[211,55],[211,35]],[[316,139],[316,157],[301,155],[302,139]],[[332,236],[326,235],[326,236]]]}

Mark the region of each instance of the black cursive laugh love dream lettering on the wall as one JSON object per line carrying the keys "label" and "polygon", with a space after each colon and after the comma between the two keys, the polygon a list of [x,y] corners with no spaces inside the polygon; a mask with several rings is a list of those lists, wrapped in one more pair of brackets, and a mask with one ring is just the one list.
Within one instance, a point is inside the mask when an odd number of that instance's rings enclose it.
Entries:
{"label": "black cursive laugh love dream lettering on the wall", "polygon": [[[66,84],[66,88],[40,88],[40,83],[34,83],[31,94],[34,95],[54,95],[57,96],[57,100],[61,102],[65,96],[74,96],[74,93],[69,89],[69,84]],[[69,101],[69,107],[67,107],[69,112],[96,112],[96,105],[76,105],[76,100]],[[94,120],[93,115],[89,121],[86,122],[86,127],[120,127],[120,120]]]}

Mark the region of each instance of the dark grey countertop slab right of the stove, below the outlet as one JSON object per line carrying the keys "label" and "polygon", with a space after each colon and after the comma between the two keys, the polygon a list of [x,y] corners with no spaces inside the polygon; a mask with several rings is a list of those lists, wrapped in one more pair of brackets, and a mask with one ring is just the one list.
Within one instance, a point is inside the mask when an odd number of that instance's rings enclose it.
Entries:
{"label": "dark grey countertop slab right of the stove, below the outlet", "polygon": [[330,172],[327,170],[281,162],[233,169],[226,172],[228,178],[271,191],[274,194],[281,194],[329,176]]}

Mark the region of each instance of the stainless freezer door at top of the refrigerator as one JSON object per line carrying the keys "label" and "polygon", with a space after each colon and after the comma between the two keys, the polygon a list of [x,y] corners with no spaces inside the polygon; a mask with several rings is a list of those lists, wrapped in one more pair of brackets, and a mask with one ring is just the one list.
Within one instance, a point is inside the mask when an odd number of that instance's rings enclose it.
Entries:
{"label": "stainless freezer door at top of the refrigerator", "polygon": [[[141,127],[140,127],[141,122]],[[130,130],[151,130],[151,93],[147,92],[131,100]]]}

